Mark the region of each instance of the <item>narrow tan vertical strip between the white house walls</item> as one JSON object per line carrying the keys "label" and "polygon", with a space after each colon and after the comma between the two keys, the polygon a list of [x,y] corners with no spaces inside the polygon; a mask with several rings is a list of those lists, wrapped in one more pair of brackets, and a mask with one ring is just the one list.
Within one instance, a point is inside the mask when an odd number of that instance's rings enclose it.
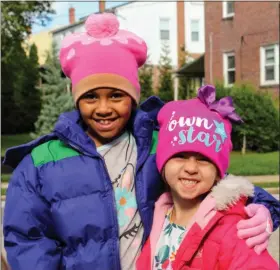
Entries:
{"label": "narrow tan vertical strip between the white house walls", "polygon": [[177,51],[178,67],[182,64],[182,59],[184,59],[184,48],[185,48],[185,2],[177,1]]}

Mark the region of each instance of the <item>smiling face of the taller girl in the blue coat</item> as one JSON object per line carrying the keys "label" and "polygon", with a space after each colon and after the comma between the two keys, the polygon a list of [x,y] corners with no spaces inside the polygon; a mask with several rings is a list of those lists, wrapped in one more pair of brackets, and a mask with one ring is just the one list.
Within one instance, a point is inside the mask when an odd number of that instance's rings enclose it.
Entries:
{"label": "smiling face of the taller girl in the blue coat", "polygon": [[123,133],[133,105],[128,94],[116,89],[92,90],[80,98],[78,108],[97,147]]}

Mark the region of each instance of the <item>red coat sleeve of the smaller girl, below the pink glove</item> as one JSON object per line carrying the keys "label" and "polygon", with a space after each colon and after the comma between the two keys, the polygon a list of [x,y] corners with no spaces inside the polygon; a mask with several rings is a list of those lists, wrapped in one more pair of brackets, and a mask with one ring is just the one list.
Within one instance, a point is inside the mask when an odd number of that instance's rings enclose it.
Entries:
{"label": "red coat sleeve of the smaller girl, below the pink glove", "polygon": [[222,238],[218,260],[219,269],[279,269],[267,250],[258,255],[254,249],[246,245],[244,240],[238,238],[236,224],[226,230],[226,234]]}

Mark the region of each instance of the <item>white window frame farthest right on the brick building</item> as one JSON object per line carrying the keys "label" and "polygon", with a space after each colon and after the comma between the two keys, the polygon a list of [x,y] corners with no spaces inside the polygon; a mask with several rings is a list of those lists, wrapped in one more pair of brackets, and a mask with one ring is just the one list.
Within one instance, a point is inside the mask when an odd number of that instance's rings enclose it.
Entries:
{"label": "white window frame farthest right on the brick building", "polygon": [[[274,64],[265,63],[265,51],[266,49],[274,49]],[[274,80],[265,80],[265,67],[273,66],[274,67]],[[275,85],[279,84],[279,44],[272,44],[267,46],[260,47],[260,85]]]}

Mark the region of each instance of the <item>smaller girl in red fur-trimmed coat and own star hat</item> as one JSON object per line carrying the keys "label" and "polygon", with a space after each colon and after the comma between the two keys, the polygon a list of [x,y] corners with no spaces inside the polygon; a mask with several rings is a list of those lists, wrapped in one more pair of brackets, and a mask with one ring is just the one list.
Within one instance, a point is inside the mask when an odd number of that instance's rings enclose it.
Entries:
{"label": "smaller girl in red fur-trimmed coat and own star hat", "polygon": [[279,269],[266,250],[258,255],[237,236],[254,187],[225,176],[231,121],[241,121],[231,99],[215,101],[215,89],[206,86],[198,98],[167,103],[158,121],[156,162],[169,192],[156,202],[137,269]]}

